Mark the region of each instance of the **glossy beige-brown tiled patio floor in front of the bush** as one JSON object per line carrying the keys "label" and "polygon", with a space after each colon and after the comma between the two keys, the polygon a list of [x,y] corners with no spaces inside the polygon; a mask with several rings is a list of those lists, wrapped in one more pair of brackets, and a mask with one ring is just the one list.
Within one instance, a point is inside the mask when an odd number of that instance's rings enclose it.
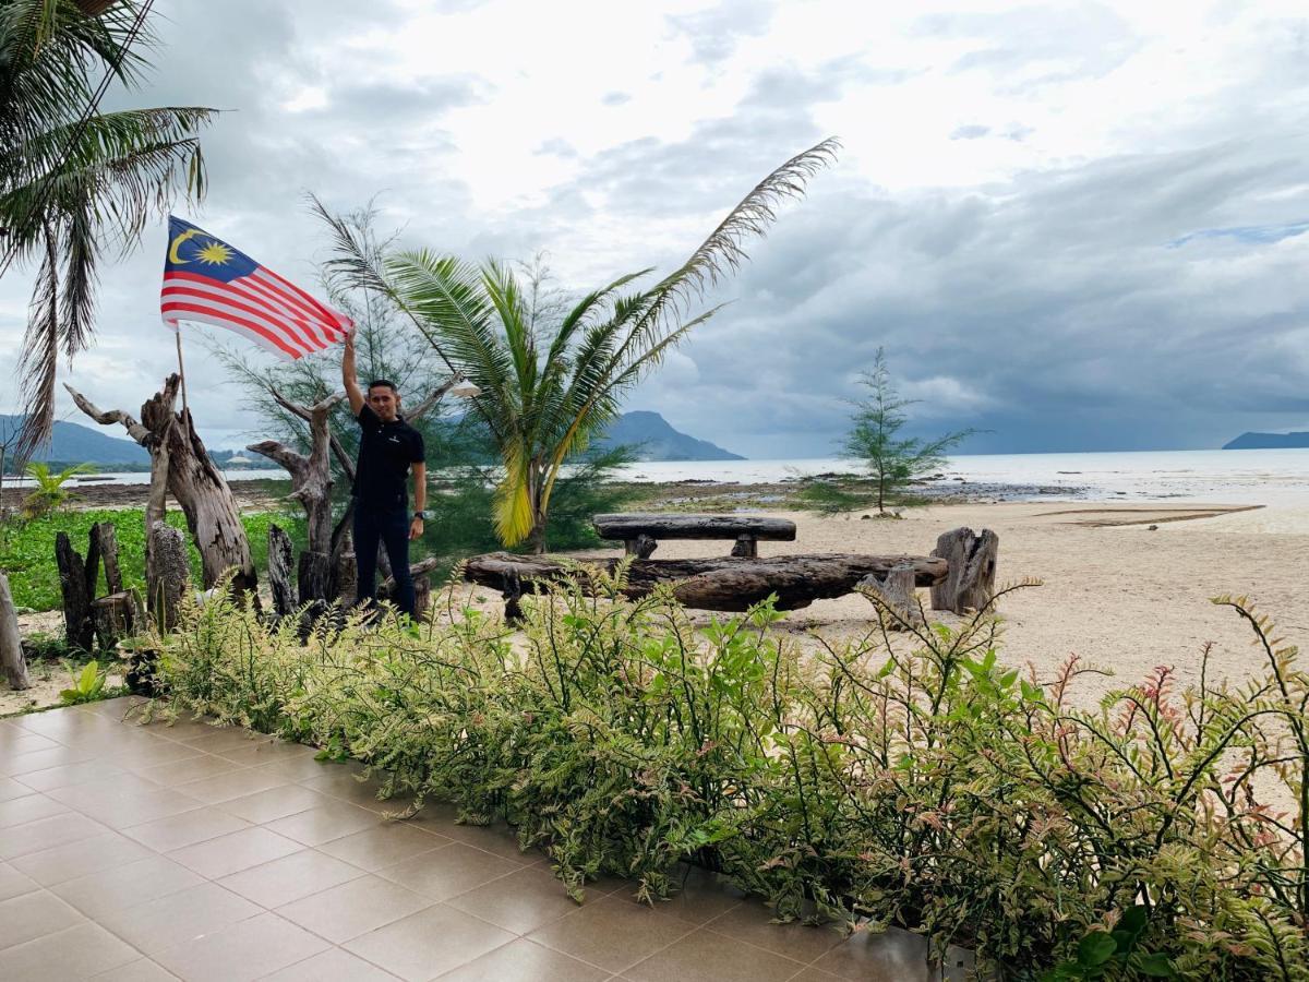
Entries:
{"label": "glossy beige-brown tiled patio floor in front of the bush", "polygon": [[348,765],[127,706],[0,720],[0,978],[940,978],[912,935],[770,924],[699,871],[653,910],[620,882],[579,906],[508,833],[391,821]]}

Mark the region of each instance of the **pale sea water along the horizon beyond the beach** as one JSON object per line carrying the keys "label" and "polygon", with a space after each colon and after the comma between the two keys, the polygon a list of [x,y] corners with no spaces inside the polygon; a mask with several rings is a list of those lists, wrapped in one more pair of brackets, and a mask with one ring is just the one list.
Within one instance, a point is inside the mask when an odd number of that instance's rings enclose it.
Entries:
{"label": "pale sea water along the horizon beyond the beach", "polygon": [[[781,483],[848,474],[847,460],[657,461],[631,464],[632,482]],[[98,482],[143,484],[149,474],[101,473]],[[285,471],[230,470],[230,481],[285,479]],[[81,482],[75,482],[75,486]],[[14,479],[5,481],[9,487]],[[89,484],[88,484],[89,486]],[[1012,453],[949,458],[925,492],[995,500],[1204,501],[1309,505],[1309,449],[1138,450],[1124,453]]]}

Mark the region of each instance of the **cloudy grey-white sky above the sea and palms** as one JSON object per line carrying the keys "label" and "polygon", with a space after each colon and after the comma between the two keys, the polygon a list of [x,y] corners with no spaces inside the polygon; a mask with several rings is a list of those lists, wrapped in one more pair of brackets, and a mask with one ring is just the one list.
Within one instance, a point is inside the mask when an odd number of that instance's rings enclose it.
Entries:
{"label": "cloudy grey-white sky above the sea and palms", "polygon": [[[1309,429],[1300,0],[156,9],[158,68],[131,101],[229,110],[204,137],[208,200],[179,211],[305,283],[325,247],[305,191],[380,195],[411,245],[546,250],[584,288],[672,267],[839,136],[713,297],[734,302],[628,402],[738,453],[831,453],[878,346],[923,432],[991,431],[971,452]],[[139,406],[174,365],[165,238],[106,268],[97,344],[64,376],[102,405]],[[4,378],[27,288],[0,284]],[[258,420],[188,351],[202,432],[245,443]]]}

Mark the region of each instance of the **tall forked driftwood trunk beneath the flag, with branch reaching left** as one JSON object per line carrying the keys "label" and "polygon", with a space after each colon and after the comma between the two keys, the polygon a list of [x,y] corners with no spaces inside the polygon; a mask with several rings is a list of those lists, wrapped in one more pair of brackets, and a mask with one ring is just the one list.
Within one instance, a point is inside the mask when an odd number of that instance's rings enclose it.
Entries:
{"label": "tall forked driftwood trunk beneath the flag, with branch reaching left", "polygon": [[162,483],[186,515],[187,529],[200,551],[204,588],[212,588],[234,570],[232,588],[254,593],[258,577],[236,498],[195,432],[190,410],[177,412],[174,409],[179,382],[177,374],[170,374],[164,389],[141,406],[139,423],[122,410],[101,411],[72,386],[64,388],[82,412],[97,423],[122,423],[128,435],[151,452],[147,526],[161,517],[162,495],[158,492]]}

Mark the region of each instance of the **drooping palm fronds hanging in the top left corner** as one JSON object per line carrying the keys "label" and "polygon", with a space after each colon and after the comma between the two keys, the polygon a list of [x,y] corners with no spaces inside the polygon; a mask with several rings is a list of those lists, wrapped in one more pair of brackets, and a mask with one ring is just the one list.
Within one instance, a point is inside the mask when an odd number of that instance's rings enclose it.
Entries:
{"label": "drooping palm fronds hanging in the top left corner", "polygon": [[179,189],[204,192],[198,131],[212,109],[93,111],[101,80],[135,85],[153,38],[140,0],[0,0],[4,267],[38,263],[21,376],[26,457],[50,436],[55,365],[90,342],[96,272],[132,249]]}

